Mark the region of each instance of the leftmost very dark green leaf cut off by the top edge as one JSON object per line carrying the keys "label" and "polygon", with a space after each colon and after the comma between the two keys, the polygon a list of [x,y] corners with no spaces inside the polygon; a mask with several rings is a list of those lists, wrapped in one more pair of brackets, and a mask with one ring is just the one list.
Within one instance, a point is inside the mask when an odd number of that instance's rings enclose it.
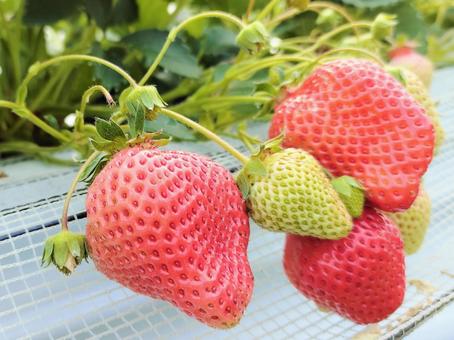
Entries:
{"label": "leftmost very dark green leaf cut off by the top edge", "polygon": [[25,0],[23,21],[31,25],[48,25],[78,12],[83,0]]}

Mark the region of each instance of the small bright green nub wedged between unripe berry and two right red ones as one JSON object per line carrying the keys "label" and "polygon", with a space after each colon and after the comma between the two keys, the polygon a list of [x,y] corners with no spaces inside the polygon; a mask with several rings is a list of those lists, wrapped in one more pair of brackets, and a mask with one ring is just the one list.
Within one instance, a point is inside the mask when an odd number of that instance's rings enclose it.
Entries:
{"label": "small bright green nub wedged between unripe berry and two right red ones", "polygon": [[364,191],[361,185],[350,176],[331,180],[331,184],[344,202],[347,211],[354,218],[361,216],[364,208]]}

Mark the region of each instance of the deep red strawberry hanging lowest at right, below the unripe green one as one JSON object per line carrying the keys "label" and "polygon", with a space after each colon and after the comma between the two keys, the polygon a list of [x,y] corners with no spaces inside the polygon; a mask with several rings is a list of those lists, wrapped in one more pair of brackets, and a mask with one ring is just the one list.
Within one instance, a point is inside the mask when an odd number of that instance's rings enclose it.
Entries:
{"label": "deep red strawberry hanging lowest at right, below the unripe green one", "polygon": [[360,324],[385,319],[405,294],[399,229],[372,208],[340,240],[287,235],[284,269],[307,298]]}

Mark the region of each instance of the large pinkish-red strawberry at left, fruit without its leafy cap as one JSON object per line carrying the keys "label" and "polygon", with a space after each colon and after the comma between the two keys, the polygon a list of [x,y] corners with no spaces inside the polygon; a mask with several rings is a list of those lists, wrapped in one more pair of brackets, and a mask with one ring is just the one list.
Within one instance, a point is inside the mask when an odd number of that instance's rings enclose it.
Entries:
{"label": "large pinkish-red strawberry at left, fruit without its leafy cap", "polygon": [[88,190],[87,242],[96,268],[217,328],[251,298],[249,219],[230,173],[191,153],[128,148]]}

